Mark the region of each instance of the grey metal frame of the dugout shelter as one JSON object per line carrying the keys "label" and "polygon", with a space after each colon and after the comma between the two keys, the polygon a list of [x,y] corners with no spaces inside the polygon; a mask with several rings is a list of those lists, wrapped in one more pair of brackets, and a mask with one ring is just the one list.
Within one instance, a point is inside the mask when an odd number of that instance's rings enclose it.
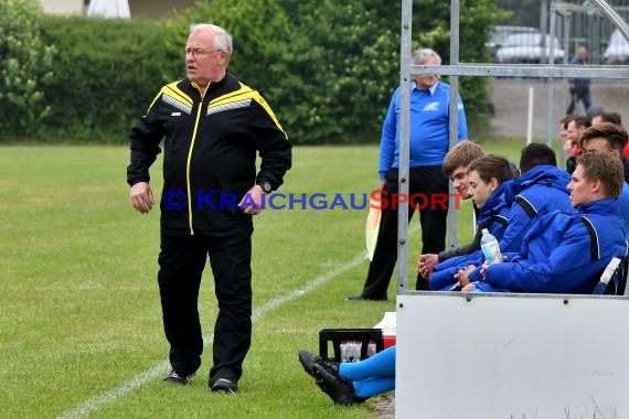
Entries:
{"label": "grey metal frame of the dugout shelter", "polygon": [[[551,2],[551,11],[553,17],[558,11],[557,6],[564,4],[559,2]],[[616,13],[616,11],[607,3],[606,0],[585,0],[584,8],[588,13],[600,13],[607,17],[622,35],[629,40],[629,26]],[[603,66],[588,65],[569,66],[554,64],[554,36],[551,36],[551,56],[548,56],[548,65],[493,65],[493,64],[459,64],[459,0],[450,0],[450,65],[440,66],[422,66],[412,65],[411,47],[412,47],[412,18],[413,18],[413,0],[402,0],[402,19],[401,19],[401,72],[399,83],[402,89],[401,96],[401,117],[399,117],[399,193],[408,195],[409,181],[409,125],[411,125],[411,75],[416,74],[437,74],[448,75],[450,77],[450,147],[457,142],[458,132],[458,114],[457,114],[457,96],[458,96],[458,76],[479,76],[479,77],[532,77],[547,78],[553,83],[555,78],[604,78],[604,79],[629,79],[629,65]],[[555,19],[551,19],[551,33],[554,35]],[[552,103],[553,89],[548,89],[548,100]],[[454,98],[454,99],[452,99]],[[548,117],[548,132],[551,120]],[[449,246],[456,243],[456,213],[449,212]],[[409,293],[407,289],[408,280],[408,203],[403,203],[397,213],[397,293]]]}

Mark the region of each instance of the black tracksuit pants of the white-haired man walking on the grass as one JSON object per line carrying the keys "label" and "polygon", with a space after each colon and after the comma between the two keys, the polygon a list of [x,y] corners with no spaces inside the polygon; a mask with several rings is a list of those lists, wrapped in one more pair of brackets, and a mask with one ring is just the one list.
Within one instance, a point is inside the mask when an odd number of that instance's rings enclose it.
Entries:
{"label": "black tracksuit pants of the white-haired man walking on the grass", "polygon": [[183,376],[201,365],[198,300],[207,256],[218,302],[210,385],[218,378],[237,382],[252,342],[250,233],[220,238],[162,233],[158,282],[170,363]]}

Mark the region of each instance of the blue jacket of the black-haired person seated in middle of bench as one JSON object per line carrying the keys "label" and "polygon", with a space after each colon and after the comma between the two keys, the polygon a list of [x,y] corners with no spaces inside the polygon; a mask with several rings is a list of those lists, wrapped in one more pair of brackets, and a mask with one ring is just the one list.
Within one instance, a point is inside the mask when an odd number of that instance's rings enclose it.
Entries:
{"label": "blue jacket of the black-haired person seated in middle of bench", "polygon": [[[522,247],[524,235],[531,228],[535,219],[554,211],[572,212],[569,193],[566,186],[571,181],[571,175],[565,170],[554,165],[541,164],[526,171],[522,176],[514,179],[508,184],[504,191],[504,200],[511,203],[508,215],[508,225],[501,238],[500,250],[503,254],[519,253]],[[478,250],[467,257],[456,260],[447,260],[446,265],[439,264],[430,276],[430,282],[439,288],[451,286],[456,282],[454,276],[461,268],[476,265],[479,267],[470,273],[470,281],[481,279],[480,266],[484,261],[482,251]]]}

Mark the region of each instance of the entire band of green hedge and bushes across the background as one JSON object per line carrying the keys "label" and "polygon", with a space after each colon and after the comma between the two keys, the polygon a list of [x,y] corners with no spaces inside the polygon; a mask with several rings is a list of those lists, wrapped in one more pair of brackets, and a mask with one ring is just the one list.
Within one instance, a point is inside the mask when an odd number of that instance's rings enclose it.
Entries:
{"label": "entire band of green hedge and bushes across the background", "polygon": [[[461,0],[460,62],[484,62],[498,0]],[[265,94],[294,143],[377,141],[399,84],[399,2],[213,0],[167,21],[43,17],[0,0],[0,136],[127,141],[158,89],[185,76],[190,24],[234,36],[231,72]],[[449,63],[449,2],[415,0],[413,47]],[[54,69],[54,73],[53,73]],[[461,77],[468,122],[488,120],[486,79]]]}

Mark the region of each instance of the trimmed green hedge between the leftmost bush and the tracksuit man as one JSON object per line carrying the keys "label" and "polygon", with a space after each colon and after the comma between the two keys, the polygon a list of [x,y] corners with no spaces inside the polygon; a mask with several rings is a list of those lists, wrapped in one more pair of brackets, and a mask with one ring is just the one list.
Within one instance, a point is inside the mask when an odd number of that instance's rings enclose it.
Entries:
{"label": "trimmed green hedge between the leftmost bush and the tracksuit man", "polygon": [[40,137],[126,142],[166,79],[162,24],[46,17],[42,35],[57,55]]}

